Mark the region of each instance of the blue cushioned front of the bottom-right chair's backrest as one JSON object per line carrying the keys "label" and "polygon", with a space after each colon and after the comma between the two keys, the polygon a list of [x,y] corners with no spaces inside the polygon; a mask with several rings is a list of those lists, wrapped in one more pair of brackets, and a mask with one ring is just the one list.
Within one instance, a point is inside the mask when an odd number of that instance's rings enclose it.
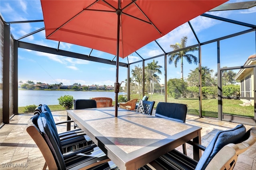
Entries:
{"label": "blue cushioned front of the bottom-right chair's backrest", "polygon": [[196,170],[204,170],[212,158],[217,154],[220,149],[229,143],[240,143],[243,136],[246,133],[246,128],[244,125],[240,124],[226,131],[219,131],[215,137],[212,139],[208,147],[204,150],[204,153],[198,164]]}

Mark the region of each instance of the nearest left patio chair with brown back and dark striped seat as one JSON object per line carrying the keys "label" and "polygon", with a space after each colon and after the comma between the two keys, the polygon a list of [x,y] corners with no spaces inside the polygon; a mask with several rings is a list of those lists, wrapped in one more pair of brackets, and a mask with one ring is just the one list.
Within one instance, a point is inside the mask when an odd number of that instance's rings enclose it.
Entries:
{"label": "nearest left patio chair with brown back and dark striped seat", "polygon": [[43,169],[47,166],[50,170],[87,169],[110,160],[95,144],[63,154],[56,125],[47,111],[34,115],[29,120],[26,131],[46,160]]}

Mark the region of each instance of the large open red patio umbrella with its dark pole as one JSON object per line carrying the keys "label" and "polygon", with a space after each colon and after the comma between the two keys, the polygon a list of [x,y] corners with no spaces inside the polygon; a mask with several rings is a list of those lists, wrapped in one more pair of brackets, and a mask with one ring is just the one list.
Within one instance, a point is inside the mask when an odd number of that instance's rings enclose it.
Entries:
{"label": "large open red patio umbrella with its dark pole", "polygon": [[127,57],[228,0],[41,0],[46,39]]}

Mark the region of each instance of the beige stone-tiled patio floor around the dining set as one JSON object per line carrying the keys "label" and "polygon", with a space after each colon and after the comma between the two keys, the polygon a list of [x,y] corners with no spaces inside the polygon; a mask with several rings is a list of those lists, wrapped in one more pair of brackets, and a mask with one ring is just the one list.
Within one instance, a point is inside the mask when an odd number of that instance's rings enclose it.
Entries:
{"label": "beige stone-tiled patio floor around the dining set", "polygon": [[[66,120],[66,111],[52,111],[55,121]],[[44,157],[34,141],[26,133],[28,119],[33,113],[15,115],[10,124],[0,129],[0,170],[41,170],[44,166]],[[199,118],[187,115],[186,123],[202,127],[202,145],[208,146],[214,135],[220,130],[231,129],[238,123],[218,121],[216,119]],[[66,130],[66,125],[58,125],[58,132]],[[249,125],[245,125],[250,129]],[[171,127],[170,127],[171,128]],[[186,145],[189,156],[192,156],[192,147]],[[182,147],[178,148],[179,150]],[[9,167],[7,167],[9,166]],[[256,170],[256,144],[238,157],[235,170]]]}

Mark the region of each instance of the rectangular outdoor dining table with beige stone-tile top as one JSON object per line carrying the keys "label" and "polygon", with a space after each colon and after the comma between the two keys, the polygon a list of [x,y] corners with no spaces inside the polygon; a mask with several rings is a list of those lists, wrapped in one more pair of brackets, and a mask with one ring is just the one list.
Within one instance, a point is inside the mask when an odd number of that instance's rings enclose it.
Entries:
{"label": "rectangular outdoor dining table with beige stone-tile top", "polygon": [[[67,116],[120,170],[136,170],[191,139],[201,144],[202,127],[126,109],[118,108],[118,117],[114,107],[68,110]],[[198,148],[193,154],[199,160]]]}

